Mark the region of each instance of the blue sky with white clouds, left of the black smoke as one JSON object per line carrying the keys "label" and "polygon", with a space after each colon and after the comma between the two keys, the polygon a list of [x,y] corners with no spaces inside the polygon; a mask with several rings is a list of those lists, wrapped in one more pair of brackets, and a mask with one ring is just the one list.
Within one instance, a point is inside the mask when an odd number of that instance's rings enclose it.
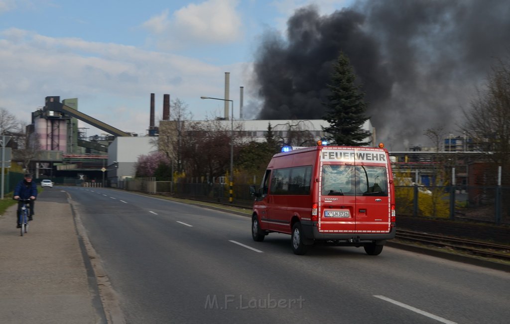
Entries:
{"label": "blue sky with white clouds, left of the black smoke", "polygon": [[[329,14],[350,1],[0,0],[0,108],[24,123],[50,95],[79,98],[79,109],[125,132],[145,134],[150,93],[163,94],[196,120],[221,116],[230,72],[234,116],[244,104],[251,62],[265,30],[285,33],[297,8]],[[87,135],[102,131],[91,128]]]}

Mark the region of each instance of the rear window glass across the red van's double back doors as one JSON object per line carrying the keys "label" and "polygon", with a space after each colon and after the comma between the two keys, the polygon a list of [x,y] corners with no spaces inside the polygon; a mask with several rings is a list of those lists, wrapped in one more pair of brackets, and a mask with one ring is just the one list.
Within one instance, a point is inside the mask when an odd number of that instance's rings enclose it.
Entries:
{"label": "rear window glass across the red van's double back doors", "polygon": [[387,196],[386,167],[325,164],[321,194],[326,196]]}

